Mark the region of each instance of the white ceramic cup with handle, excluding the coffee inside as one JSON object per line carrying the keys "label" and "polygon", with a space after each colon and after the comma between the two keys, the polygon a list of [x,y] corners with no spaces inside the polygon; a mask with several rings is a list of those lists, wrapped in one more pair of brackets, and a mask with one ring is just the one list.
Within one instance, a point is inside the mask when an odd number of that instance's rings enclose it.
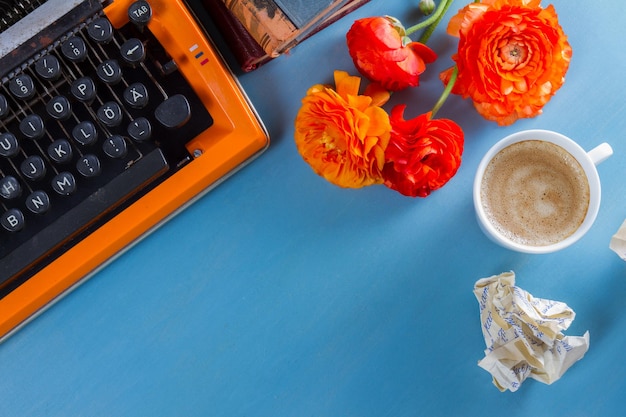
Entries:
{"label": "white ceramic cup with handle, excluding the coffee inside", "polygon": [[[563,237],[561,240],[550,242],[550,243],[528,243],[523,240],[518,239],[516,236],[513,236],[510,231],[504,230],[503,226],[497,226],[497,222],[493,219],[490,219],[491,214],[488,213],[489,210],[485,208],[483,196],[482,196],[482,185],[483,185],[483,177],[485,175],[485,170],[489,166],[490,162],[494,158],[494,156],[498,155],[500,151],[509,147],[513,144],[518,144],[518,142],[526,142],[529,144],[529,141],[543,141],[549,142],[563,148],[567,153],[569,153],[582,168],[584,171],[584,175],[586,176],[587,183],[589,184],[589,204],[586,210],[586,214],[581,212],[580,217],[581,221],[577,228],[575,225],[571,225],[575,230],[569,234],[568,236]],[[526,146],[526,145],[523,145]],[[528,145],[531,146],[531,145]],[[544,145],[541,145],[544,146]],[[549,146],[549,145],[546,145]],[[517,147],[520,147],[519,144]],[[524,253],[550,253],[561,250],[578,241],[594,223],[598,211],[600,209],[600,200],[601,200],[601,187],[600,187],[600,177],[598,175],[598,171],[596,169],[596,165],[600,164],[602,161],[607,159],[613,154],[613,150],[608,143],[602,143],[592,149],[591,151],[585,151],[580,145],[574,142],[572,139],[564,136],[560,133],[556,133],[549,130],[525,130],[521,132],[514,133],[501,139],[497,142],[483,157],[481,160],[477,172],[476,177],[474,179],[474,209],[476,212],[476,218],[478,220],[478,224],[482,231],[489,237],[491,240],[496,242],[497,244],[514,250],[518,252]],[[503,155],[503,154],[500,154]],[[502,158],[502,156],[499,156]],[[524,158],[527,159],[527,158]],[[547,158],[546,158],[547,159]],[[537,158],[539,160],[539,158]],[[537,162],[539,164],[539,162]],[[511,188],[511,187],[509,187]],[[509,188],[506,188],[507,192]],[[503,188],[505,189],[505,188]],[[494,195],[494,194],[492,194]],[[489,199],[488,197],[484,197],[485,199]],[[511,200],[512,201],[512,200]],[[527,200],[525,200],[527,201]],[[493,204],[493,202],[492,202]],[[542,202],[543,204],[543,202]],[[519,212],[523,212],[524,210],[518,210]],[[532,211],[529,211],[532,212]],[[514,216],[513,216],[514,217]],[[523,216],[522,216],[523,217]],[[540,216],[534,216],[540,217]],[[533,216],[527,216],[527,218],[532,218]],[[560,217],[558,217],[560,218]],[[508,220],[507,220],[508,221]],[[526,220],[529,221],[529,220]],[[538,230],[543,228],[543,226],[536,226]]]}

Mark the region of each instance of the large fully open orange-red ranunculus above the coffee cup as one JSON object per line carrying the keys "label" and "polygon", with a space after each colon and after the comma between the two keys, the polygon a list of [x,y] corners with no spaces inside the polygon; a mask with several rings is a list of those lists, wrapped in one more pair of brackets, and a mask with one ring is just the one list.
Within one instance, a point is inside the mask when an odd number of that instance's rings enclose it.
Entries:
{"label": "large fully open orange-red ranunculus above the coffee cup", "polygon": [[[541,114],[565,81],[572,48],[554,7],[540,0],[470,3],[450,19],[448,33],[459,37],[452,92],[500,125]],[[445,84],[451,72],[441,73]]]}

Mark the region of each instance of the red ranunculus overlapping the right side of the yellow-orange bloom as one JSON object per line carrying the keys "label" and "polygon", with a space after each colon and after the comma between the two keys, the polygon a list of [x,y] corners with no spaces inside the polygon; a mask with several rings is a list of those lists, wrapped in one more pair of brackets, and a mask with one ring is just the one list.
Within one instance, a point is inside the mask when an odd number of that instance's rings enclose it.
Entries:
{"label": "red ranunculus overlapping the right side of the yellow-orange bloom", "polygon": [[391,139],[383,169],[385,185],[410,197],[427,197],[457,172],[463,154],[463,130],[431,112],[405,120],[405,105],[391,110]]}

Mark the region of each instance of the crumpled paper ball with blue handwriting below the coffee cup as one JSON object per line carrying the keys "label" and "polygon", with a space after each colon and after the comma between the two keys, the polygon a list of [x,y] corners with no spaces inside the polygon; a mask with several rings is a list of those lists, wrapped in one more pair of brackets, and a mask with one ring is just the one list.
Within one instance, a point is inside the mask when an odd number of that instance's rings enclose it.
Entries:
{"label": "crumpled paper ball with blue handwriting below the coffee cup", "polygon": [[500,391],[517,391],[526,378],[558,380],[589,349],[589,332],[564,336],[576,314],[565,303],[535,298],[505,272],[474,285],[480,305],[485,357],[478,366]]}

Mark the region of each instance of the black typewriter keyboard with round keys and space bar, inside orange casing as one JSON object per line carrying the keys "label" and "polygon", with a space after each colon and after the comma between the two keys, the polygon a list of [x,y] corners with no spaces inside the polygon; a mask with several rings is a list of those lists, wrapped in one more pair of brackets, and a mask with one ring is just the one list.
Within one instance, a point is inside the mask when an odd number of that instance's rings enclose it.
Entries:
{"label": "black typewriter keyboard with round keys and space bar, inside orange casing", "polygon": [[0,87],[0,291],[167,178],[211,115],[146,23],[98,13]]}

